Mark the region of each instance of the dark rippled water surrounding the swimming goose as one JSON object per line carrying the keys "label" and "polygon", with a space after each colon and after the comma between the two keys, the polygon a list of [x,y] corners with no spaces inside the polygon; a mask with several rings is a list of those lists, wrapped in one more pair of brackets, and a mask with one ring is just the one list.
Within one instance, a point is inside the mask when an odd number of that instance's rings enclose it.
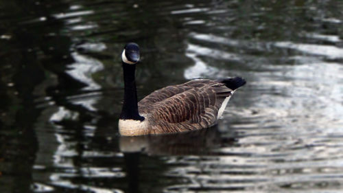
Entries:
{"label": "dark rippled water surrounding the swimming goose", "polygon": [[[0,192],[342,192],[342,1],[0,1]],[[120,137],[139,98],[248,84],[213,128]]]}

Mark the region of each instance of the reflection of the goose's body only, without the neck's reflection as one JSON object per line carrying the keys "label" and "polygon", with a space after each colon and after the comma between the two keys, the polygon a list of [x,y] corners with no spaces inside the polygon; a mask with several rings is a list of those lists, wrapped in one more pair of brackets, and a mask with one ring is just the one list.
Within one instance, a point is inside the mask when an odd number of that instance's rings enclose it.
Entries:
{"label": "reflection of the goose's body only, without the neck's reflection", "polygon": [[121,152],[147,155],[212,155],[216,148],[233,144],[235,136],[222,137],[217,126],[188,133],[120,137]]}

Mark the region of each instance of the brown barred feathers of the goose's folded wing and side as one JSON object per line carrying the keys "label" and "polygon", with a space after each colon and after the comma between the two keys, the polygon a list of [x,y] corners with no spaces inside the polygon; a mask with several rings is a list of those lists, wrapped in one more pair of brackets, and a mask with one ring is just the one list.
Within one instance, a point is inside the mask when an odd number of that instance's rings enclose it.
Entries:
{"label": "brown barred feathers of the goose's folded wing and side", "polygon": [[154,91],[139,102],[150,133],[174,133],[212,126],[231,89],[214,80],[192,80]]}

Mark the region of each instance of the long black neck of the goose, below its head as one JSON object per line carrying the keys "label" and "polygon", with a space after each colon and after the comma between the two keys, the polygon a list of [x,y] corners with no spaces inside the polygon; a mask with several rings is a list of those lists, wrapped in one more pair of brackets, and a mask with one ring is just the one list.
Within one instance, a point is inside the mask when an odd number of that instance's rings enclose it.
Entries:
{"label": "long black neck of the goose, below its head", "polygon": [[121,109],[120,119],[143,121],[144,117],[141,117],[141,115],[138,113],[137,89],[136,81],[134,80],[136,65],[123,63],[122,66],[125,91],[123,109]]}

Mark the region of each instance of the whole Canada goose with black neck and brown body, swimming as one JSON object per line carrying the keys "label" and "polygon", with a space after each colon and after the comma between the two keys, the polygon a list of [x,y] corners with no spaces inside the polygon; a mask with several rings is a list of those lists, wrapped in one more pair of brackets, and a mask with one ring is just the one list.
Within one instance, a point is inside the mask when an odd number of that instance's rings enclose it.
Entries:
{"label": "whole Canada goose with black neck and brown body, swimming", "polygon": [[124,136],[185,132],[217,123],[243,78],[191,80],[165,87],[137,101],[134,73],[139,45],[128,43],[121,54],[124,79],[119,133]]}

